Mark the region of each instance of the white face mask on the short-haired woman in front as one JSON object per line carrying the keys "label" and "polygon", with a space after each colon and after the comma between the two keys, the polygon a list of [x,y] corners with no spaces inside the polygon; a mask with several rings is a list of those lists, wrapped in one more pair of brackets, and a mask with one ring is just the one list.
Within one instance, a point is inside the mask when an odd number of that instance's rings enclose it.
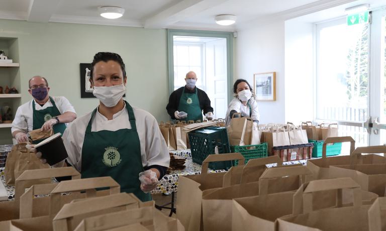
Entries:
{"label": "white face mask on the short-haired woman in front", "polygon": [[108,87],[94,86],[94,90],[92,91],[92,94],[101,100],[101,102],[107,107],[113,107],[117,105],[125,93],[126,87],[123,84]]}

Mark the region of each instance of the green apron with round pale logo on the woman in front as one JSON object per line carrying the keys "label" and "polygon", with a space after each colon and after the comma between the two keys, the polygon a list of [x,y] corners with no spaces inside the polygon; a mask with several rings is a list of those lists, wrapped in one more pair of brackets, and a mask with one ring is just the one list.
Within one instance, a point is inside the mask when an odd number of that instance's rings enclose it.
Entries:
{"label": "green apron with round pale logo on the woman in front", "polygon": [[111,176],[121,185],[122,192],[134,193],[140,200],[150,201],[150,193],[141,190],[138,178],[144,169],[133,108],[125,103],[131,129],[91,132],[97,108],[92,111],[84,135],[81,177]]}

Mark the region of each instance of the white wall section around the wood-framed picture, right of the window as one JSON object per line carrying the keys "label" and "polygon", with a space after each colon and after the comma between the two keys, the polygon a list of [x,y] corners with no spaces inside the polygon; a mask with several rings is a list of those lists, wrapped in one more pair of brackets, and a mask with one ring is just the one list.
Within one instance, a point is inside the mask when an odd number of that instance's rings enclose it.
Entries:
{"label": "white wall section around the wood-framed picture, right of the window", "polygon": [[237,74],[253,85],[253,73],[276,72],[276,101],[259,101],[260,123],[285,123],[284,22],[238,31]]}

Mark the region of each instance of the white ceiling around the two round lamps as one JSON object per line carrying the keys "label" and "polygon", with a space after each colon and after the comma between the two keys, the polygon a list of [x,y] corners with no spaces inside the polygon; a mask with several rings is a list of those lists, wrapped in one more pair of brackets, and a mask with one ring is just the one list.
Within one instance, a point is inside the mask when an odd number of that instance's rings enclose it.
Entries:
{"label": "white ceiling around the two round lamps", "polygon": [[[357,3],[378,4],[383,0],[0,0],[0,19],[30,22],[64,22],[145,28],[186,28],[222,31],[248,25],[287,20],[329,8]],[[116,20],[99,16],[100,6],[118,6],[125,15]],[[343,15],[344,12],[336,14]],[[232,26],[219,26],[214,17],[237,16]]]}

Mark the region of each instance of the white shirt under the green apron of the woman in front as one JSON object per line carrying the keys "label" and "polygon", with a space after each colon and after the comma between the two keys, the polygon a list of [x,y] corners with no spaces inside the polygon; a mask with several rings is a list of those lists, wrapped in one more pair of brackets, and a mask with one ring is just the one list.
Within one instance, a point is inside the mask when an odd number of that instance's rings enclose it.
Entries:
{"label": "white shirt under the green apron of the woman in front", "polygon": [[[133,107],[133,111],[138,137],[141,142],[142,166],[160,165],[169,167],[169,151],[157,121],[145,110]],[[90,121],[91,113],[92,111],[74,120],[63,135],[64,146],[68,153],[67,161],[79,172],[81,172],[82,166],[84,134]],[[129,113],[126,107],[115,113],[113,120],[110,121],[98,110],[96,111],[91,123],[91,132],[102,130],[117,131],[120,129],[131,129]]]}

